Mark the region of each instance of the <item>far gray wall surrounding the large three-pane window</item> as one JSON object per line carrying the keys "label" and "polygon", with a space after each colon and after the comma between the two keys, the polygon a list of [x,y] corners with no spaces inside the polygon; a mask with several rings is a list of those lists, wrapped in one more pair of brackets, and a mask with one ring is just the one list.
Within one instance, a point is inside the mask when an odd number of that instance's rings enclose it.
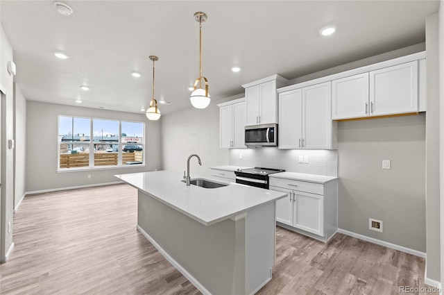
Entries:
{"label": "far gray wall surrounding the large three-pane window", "polygon": [[[162,169],[160,152],[160,121],[148,121],[145,115],[110,110],[96,110],[53,103],[27,101],[26,191],[113,183],[114,174]],[[58,115],[145,121],[146,167],[57,172]],[[162,119],[160,119],[162,120]],[[88,179],[87,174],[92,178]]]}

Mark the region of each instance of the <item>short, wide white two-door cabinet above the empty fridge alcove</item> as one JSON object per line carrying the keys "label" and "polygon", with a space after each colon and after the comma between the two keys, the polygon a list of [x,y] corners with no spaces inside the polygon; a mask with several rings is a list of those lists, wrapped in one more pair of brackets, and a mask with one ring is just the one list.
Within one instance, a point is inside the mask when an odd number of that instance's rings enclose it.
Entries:
{"label": "short, wide white two-door cabinet above the empty fridge alcove", "polygon": [[418,60],[333,80],[332,119],[421,111],[418,81]]}

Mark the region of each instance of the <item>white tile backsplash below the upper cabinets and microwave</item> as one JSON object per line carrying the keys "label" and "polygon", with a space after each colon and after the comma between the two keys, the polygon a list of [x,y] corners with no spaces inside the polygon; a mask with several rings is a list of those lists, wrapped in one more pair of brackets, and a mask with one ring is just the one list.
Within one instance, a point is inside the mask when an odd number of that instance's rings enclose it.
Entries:
{"label": "white tile backsplash below the upper cabinets and microwave", "polygon": [[[300,155],[308,156],[308,163],[300,163]],[[338,151],[336,150],[282,150],[273,147],[231,149],[229,161],[229,165],[236,166],[257,166],[284,169],[290,172],[338,176]]]}

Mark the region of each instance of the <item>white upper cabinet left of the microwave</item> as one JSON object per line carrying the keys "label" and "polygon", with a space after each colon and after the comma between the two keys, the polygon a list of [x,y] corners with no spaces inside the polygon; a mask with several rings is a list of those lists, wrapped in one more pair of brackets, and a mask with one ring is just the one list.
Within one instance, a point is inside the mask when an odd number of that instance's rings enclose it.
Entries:
{"label": "white upper cabinet left of the microwave", "polygon": [[246,126],[246,105],[244,99],[220,103],[221,148],[245,149],[244,128]]}

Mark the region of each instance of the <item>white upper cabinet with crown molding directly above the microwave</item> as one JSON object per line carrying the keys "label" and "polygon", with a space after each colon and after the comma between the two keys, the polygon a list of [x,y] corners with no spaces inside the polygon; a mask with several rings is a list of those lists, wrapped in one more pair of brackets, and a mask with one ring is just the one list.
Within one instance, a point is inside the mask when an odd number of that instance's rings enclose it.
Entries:
{"label": "white upper cabinet with crown molding directly above the microwave", "polygon": [[278,87],[287,85],[287,79],[273,75],[242,85],[245,88],[247,125],[278,122]]}

